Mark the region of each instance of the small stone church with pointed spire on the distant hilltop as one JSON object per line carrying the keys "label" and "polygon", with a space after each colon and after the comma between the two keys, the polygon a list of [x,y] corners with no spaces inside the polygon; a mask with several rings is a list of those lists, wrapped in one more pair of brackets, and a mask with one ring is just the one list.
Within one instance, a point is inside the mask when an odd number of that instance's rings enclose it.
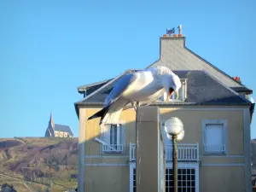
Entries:
{"label": "small stone church with pointed spire on the distant hilltop", "polygon": [[55,124],[53,115],[50,113],[49,125],[44,137],[73,137],[73,132],[67,125]]}

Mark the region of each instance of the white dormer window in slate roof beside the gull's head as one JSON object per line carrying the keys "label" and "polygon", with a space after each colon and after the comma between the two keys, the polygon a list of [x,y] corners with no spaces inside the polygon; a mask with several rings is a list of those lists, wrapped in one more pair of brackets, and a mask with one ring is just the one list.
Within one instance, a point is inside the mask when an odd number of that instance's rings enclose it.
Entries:
{"label": "white dormer window in slate roof beside the gull's head", "polygon": [[[173,92],[171,98],[170,98],[170,102],[184,102],[185,99],[187,98],[187,80],[186,79],[180,79],[182,86],[181,88],[178,90],[178,98],[176,99],[176,93]],[[159,101],[166,101],[166,92],[164,93],[163,96],[160,97]]]}

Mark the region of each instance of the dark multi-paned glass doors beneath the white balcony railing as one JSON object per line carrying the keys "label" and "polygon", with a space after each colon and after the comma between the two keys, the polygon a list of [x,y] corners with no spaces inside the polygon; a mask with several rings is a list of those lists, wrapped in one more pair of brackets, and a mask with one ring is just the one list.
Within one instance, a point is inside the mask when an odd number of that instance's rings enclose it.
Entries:
{"label": "dark multi-paned glass doors beneath the white balcony railing", "polygon": [[[133,192],[136,192],[136,169],[133,169]],[[166,192],[173,190],[172,169],[166,168]],[[196,192],[195,168],[177,169],[177,191],[178,192]]]}

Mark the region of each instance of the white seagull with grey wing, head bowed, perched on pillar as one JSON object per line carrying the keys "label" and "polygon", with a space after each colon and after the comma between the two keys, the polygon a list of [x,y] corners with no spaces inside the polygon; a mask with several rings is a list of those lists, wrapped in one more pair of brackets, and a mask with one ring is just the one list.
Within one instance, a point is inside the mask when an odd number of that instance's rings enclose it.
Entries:
{"label": "white seagull with grey wing, head bowed, perched on pillar", "polygon": [[88,120],[101,117],[100,125],[118,124],[120,113],[126,105],[149,105],[166,93],[166,102],[170,100],[173,92],[181,88],[178,76],[167,67],[150,67],[125,74],[117,80],[113,90],[104,102],[104,108],[92,115]]}

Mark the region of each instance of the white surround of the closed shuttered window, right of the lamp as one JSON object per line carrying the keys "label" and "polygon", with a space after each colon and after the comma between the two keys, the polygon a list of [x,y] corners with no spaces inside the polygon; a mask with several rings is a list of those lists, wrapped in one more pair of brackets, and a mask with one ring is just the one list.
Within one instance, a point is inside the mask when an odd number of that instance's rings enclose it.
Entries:
{"label": "white surround of the closed shuttered window, right of the lamp", "polygon": [[[221,150],[208,149],[206,141],[207,125],[222,125],[222,136],[223,136],[223,146]],[[205,119],[202,121],[202,151],[203,154],[228,154],[228,132],[227,132],[228,122],[226,119]]]}

